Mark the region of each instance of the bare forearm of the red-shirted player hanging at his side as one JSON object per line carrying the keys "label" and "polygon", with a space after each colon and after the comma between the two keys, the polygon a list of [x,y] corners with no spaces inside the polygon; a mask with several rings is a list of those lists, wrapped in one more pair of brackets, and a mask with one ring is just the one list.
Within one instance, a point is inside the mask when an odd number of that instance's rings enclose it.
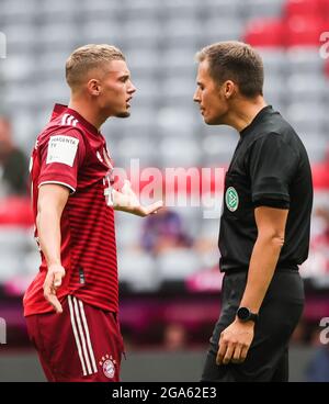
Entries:
{"label": "bare forearm of the red-shirted player hanging at his side", "polygon": [[36,217],[37,233],[41,249],[48,267],[60,265],[60,215],[52,207],[43,207]]}

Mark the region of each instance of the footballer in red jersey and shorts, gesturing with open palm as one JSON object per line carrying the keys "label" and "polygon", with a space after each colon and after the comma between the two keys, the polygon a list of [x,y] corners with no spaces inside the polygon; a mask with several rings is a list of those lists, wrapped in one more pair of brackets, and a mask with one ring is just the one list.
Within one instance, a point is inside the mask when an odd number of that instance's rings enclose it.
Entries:
{"label": "footballer in red jersey and shorts, gesturing with open palm", "polygon": [[113,161],[100,126],[129,116],[136,88],[114,46],[86,45],[66,64],[68,106],[56,104],[31,157],[35,238],[42,263],[24,295],[31,340],[49,381],[118,381],[123,339],[114,210],[146,216]]}

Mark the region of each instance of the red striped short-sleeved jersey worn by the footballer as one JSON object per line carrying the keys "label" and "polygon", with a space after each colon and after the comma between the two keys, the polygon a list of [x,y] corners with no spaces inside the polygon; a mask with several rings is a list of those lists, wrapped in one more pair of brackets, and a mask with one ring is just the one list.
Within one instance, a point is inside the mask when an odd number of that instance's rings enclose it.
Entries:
{"label": "red striped short-sleeved jersey worn by the footballer", "polygon": [[[72,294],[88,304],[117,312],[114,212],[106,197],[113,166],[104,137],[78,112],[56,104],[50,122],[37,137],[30,169],[34,220],[42,184],[58,183],[70,189],[60,221],[66,276],[57,291],[59,301]],[[35,237],[37,240],[37,229]],[[42,251],[41,256],[39,271],[24,295],[25,316],[54,311],[44,298],[47,265]]]}

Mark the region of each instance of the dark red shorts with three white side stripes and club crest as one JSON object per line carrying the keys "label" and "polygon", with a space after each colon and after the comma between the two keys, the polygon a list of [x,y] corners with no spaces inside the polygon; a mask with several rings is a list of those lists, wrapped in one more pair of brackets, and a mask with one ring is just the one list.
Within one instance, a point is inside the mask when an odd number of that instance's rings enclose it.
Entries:
{"label": "dark red shorts with three white side stripes and club crest", "polygon": [[120,381],[124,346],[115,313],[69,295],[61,314],[31,315],[26,323],[48,381]]}

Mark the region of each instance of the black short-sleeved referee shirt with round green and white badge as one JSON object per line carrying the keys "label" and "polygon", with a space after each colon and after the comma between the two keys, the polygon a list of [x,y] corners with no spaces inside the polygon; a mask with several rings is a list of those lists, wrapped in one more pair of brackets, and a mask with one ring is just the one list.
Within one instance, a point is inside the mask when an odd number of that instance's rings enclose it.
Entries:
{"label": "black short-sleeved referee shirt with round green and white badge", "polygon": [[288,209],[276,269],[298,269],[308,256],[313,183],[305,147],[292,126],[263,108],[240,133],[225,177],[220,218],[220,270],[248,271],[257,239],[254,209]]}

